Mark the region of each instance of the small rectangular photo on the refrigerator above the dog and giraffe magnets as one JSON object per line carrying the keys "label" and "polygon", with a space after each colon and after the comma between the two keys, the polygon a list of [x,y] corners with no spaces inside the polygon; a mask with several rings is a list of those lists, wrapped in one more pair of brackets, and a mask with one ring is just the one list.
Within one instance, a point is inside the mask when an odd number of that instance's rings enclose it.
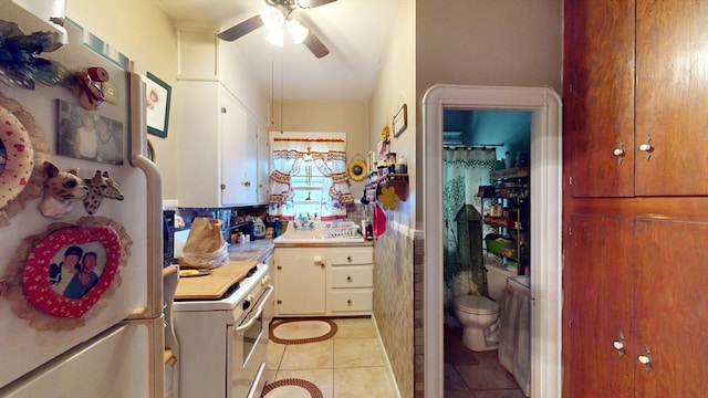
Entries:
{"label": "small rectangular photo on the refrigerator above the dog and giraffe magnets", "polygon": [[56,154],[111,165],[123,165],[123,122],[58,100]]}

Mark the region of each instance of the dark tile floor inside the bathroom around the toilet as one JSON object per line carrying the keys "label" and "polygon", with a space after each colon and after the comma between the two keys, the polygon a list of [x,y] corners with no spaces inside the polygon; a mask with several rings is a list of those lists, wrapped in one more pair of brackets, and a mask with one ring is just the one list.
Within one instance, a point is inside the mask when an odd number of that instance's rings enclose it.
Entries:
{"label": "dark tile floor inside the bathroom around the toilet", "polygon": [[445,398],[525,397],[497,350],[472,352],[461,337],[461,327],[445,326]]}

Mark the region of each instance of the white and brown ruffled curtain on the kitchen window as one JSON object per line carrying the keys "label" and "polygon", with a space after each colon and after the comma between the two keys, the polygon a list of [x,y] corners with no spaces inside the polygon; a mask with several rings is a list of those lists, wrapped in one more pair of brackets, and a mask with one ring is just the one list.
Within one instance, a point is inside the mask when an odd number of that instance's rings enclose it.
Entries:
{"label": "white and brown ruffled curtain on the kitchen window", "polygon": [[295,206],[291,176],[312,165],[324,177],[319,216],[322,220],[346,218],[346,205],[353,203],[346,176],[346,135],[284,133],[271,143],[270,210],[271,218],[293,220]]}

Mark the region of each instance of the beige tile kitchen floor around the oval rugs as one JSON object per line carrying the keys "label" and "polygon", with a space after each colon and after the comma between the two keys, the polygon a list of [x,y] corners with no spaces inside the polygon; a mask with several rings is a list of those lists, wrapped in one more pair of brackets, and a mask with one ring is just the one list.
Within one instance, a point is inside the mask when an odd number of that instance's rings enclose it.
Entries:
{"label": "beige tile kitchen floor around the oval rugs", "polygon": [[[323,398],[396,397],[373,321],[333,321],[337,332],[334,337],[323,342],[278,344],[270,341],[267,383],[304,379],[315,384]],[[299,387],[280,387],[266,397],[310,398],[310,394]]]}

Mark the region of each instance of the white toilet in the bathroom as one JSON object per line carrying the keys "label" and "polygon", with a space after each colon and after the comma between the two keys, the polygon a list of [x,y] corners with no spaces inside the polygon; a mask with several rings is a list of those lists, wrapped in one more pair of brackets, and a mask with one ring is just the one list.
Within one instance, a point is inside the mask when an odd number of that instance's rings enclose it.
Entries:
{"label": "white toilet in the bathroom", "polygon": [[501,264],[487,263],[487,287],[489,296],[464,295],[454,300],[454,312],[462,324],[462,343],[475,352],[497,349],[499,346],[499,324],[501,304],[507,279],[516,271],[506,270]]}

